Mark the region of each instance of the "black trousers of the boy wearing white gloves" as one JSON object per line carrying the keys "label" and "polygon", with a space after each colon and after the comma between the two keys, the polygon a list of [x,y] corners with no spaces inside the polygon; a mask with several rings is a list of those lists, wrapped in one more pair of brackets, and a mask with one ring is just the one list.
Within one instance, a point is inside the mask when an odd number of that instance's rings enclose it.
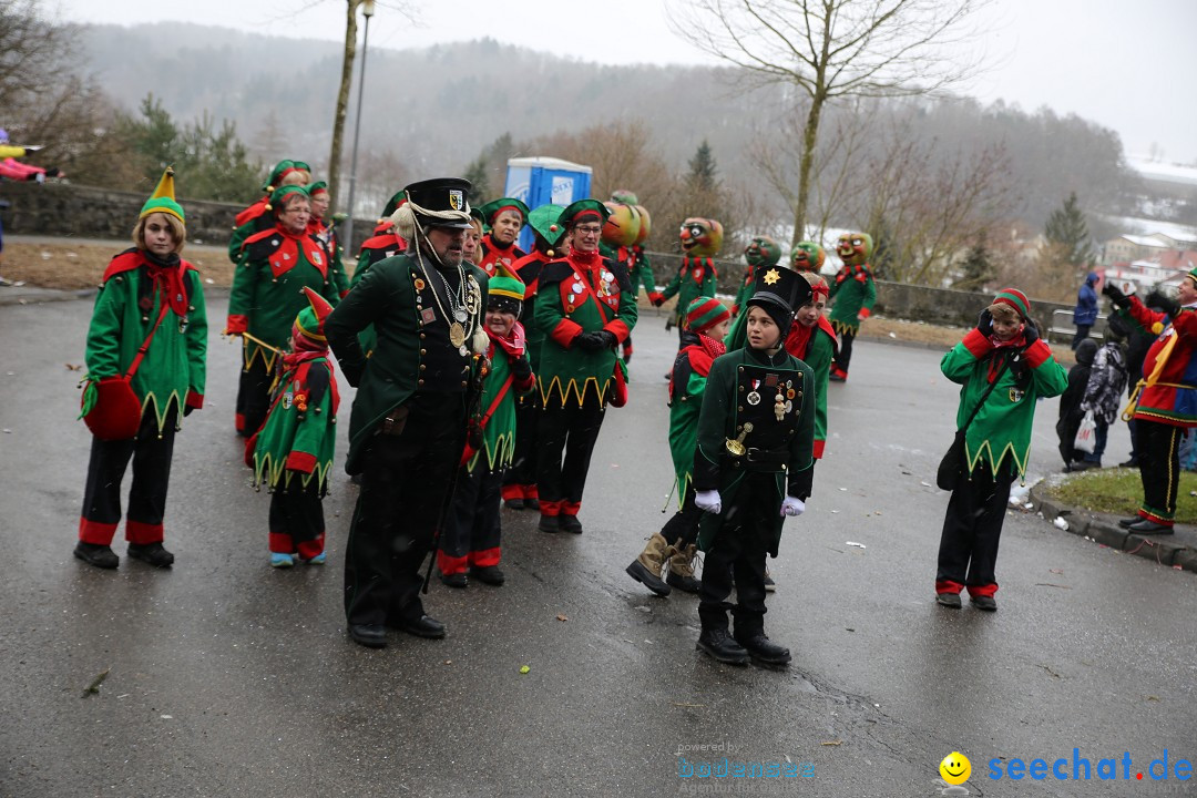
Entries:
{"label": "black trousers of the boy wearing white gloves", "polygon": [[[728,610],[736,634],[765,628],[765,555],[780,501],[773,474],[746,474],[730,506],[723,507],[719,529],[703,561],[698,617],[704,631],[727,631]],[[736,604],[728,601],[736,589]]]}

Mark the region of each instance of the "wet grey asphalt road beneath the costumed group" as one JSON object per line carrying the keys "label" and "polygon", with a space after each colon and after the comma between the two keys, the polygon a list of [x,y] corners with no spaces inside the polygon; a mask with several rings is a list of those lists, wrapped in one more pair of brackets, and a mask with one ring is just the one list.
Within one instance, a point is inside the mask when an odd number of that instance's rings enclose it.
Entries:
{"label": "wet grey asphalt road beneath the costumed group", "polygon": [[[0,307],[0,796],[935,796],[953,750],[972,760],[972,794],[1197,794],[1135,781],[1165,749],[1172,766],[1197,759],[1193,574],[1019,513],[999,611],[934,604],[947,494],[928,483],[956,401],[940,352],[861,342],[832,386],[815,495],[771,564],[766,628],[794,651],[788,671],[704,658],[695,599],[652,598],[624,573],[672,481],[662,374],[676,337],[651,310],[631,402],[608,412],[594,457],[585,534],[505,511],[508,584],[433,584],[448,639],[396,634],[376,652],[345,636],[344,473],[324,505],[328,565],[268,567],[268,499],[232,434],[237,348],[217,334],[206,408],[176,443],[176,566],[127,560],[123,543],[116,572],[71,556],[90,437],[66,364],[83,363],[90,309]],[[224,311],[213,297],[217,333]],[[1038,474],[1057,467],[1055,416],[1043,402]],[[1126,449],[1119,427],[1107,458]],[[789,760],[813,775],[680,778],[681,747],[704,744],[717,748],[685,762]],[[1074,748],[1094,767],[1119,757],[1119,780],[988,778],[996,757],[1070,762]]]}

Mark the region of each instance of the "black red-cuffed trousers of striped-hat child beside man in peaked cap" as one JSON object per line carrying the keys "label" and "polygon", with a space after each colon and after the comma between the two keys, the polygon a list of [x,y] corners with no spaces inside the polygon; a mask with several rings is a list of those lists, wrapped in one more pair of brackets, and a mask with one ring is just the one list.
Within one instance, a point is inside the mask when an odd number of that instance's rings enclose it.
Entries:
{"label": "black red-cuffed trousers of striped-hat child beside man in peaked cap", "polygon": [[437,566],[440,573],[463,573],[468,566],[499,564],[499,516],[503,471],[492,471],[486,452],[479,456],[473,471],[462,467],[452,497],[449,522],[440,531]]}

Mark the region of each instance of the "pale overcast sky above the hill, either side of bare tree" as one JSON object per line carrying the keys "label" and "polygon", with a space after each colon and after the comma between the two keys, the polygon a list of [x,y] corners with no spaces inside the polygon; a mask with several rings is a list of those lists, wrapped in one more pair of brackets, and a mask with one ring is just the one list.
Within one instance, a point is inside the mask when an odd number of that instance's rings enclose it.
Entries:
{"label": "pale overcast sky above the hill, either side of bare tree", "polygon": [[[676,1],[676,0],[675,0]],[[385,5],[383,5],[385,4]],[[344,0],[45,0],[62,18],[136,24],[180,20],[342,39]],[[379,0],[370,47],[406,48],[482,36],[588,61],[710,63],[667,26],[664,0],[409,0],[413,24]],[[388,7],[389,6],[389,7]],[[1197,164],[1197,2],[994,0],[978,20],[992,68],[967,87],[1025,110],[1075,112],[1117,130],[1128,154],[1155,145]]]}

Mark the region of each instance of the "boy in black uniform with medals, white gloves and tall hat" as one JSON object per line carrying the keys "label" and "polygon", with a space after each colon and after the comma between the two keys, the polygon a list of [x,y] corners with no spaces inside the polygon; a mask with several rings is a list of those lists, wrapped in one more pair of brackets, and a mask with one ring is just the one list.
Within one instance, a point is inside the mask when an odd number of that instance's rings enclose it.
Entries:
{"label": "boy in black uniform with medals, white gloves and tall hat", "polygon": [[716,359],[706,383],[694,452],[694,504],[705,511],[698,548],[706,553],[698,648],[724,663],[790,662],[790,650],[765,635],[765,554],[777,556],[782,522],[806,510],[797,495],[814,462],[814,372],[783,346],[794,311],[808,301],[800,274],[761,269],[747,303],[748,343]]}

